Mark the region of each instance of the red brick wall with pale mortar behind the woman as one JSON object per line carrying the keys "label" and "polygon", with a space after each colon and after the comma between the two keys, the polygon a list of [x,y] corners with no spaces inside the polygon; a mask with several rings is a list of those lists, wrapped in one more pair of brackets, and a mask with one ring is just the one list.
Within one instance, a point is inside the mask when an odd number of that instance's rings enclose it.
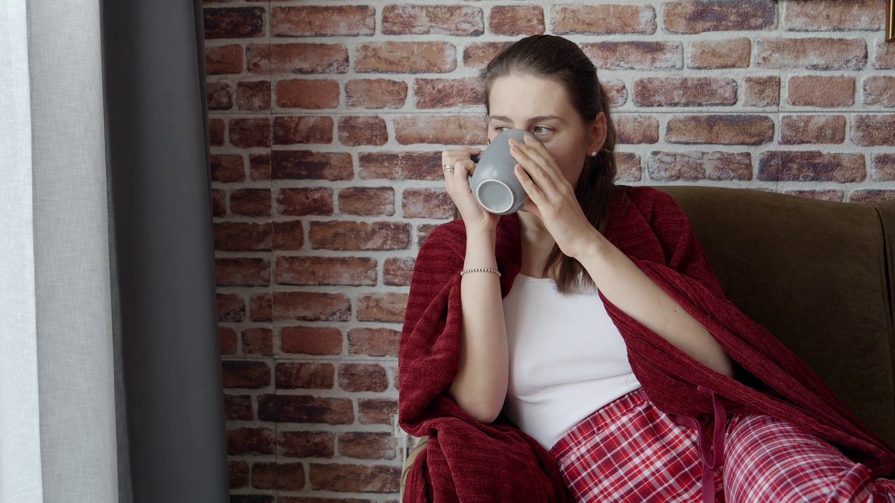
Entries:
{"label": "red brick wall with pale mortar behind the woman", "polygon": [[475,75],[579,42],[623,183],[895,197],[885,0],[206,1],[233,501],[394,501],[396,351],[443,144],[485,139]]}

